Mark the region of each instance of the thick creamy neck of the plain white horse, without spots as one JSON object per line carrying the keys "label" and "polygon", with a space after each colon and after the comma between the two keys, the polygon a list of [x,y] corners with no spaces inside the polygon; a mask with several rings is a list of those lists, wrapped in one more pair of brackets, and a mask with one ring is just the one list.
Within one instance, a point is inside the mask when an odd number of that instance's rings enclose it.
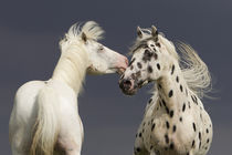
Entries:
{"label": "thick creamy neck of the plain white horse, without spots", "polygon": [[62,51],[52,79],[64,82],[77,94],[81,91],[87,69],[88,56],[84,48],[71,45]]}

